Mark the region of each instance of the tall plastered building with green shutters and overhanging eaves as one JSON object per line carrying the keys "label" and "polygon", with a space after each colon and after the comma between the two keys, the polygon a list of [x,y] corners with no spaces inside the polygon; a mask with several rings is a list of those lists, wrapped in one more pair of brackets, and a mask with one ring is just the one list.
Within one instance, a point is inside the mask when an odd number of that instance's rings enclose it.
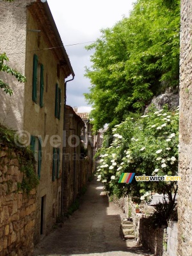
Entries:
{"label": "tall plastered building with green shutters and overhanging eaves", "polygon": [[13,96],[0,92],[0,122],[20,131],[36,157],[37,191],[34,241],[52,229],[61,214],[61,170],[65,83],[74,77],[47,2],[1,1],[1,51],[26,83],[4,75]]}

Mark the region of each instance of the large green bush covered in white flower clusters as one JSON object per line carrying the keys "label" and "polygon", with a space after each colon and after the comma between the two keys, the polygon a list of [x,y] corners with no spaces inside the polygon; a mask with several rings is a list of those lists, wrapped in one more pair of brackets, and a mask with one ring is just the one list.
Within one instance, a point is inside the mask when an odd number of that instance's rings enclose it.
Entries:
{"label": "large green bush covered in white flower clusters", "polygon": [[119,184],[121,174],[177,175],[179,145],[179,108],[157,111],[151,108],[147,115],[128,117],[113,129],[113,141],[105,137],[99,150],[98,180],[104,182],[109,195],[131,195],[135,202],[150,200],[149,192],[168,195],[177,193],[177,182],[137,182]]}

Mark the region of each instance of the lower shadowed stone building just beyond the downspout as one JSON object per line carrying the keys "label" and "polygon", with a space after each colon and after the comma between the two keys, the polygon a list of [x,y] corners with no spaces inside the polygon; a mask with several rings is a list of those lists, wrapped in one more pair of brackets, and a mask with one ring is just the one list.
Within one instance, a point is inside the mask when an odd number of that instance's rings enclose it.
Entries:
{"label": "lower shadowed stone building just beyond the downspout", "polygon": [[88,180],[89,164],[81,140],[84,122],[74,109],[65,106],[65,142],[63,145],[63,197],[62,209],[66,213]]}

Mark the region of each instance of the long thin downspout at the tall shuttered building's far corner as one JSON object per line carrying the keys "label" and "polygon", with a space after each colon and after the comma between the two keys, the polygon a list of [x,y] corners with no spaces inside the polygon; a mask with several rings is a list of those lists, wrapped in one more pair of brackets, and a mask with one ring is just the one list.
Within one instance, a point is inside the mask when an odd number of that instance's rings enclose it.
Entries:
{"label": "long thin downspout at the tall shuttered building's far corner", "polygon": [[[66,124],[66,115],[65,115],[65,106],[66,106],[66,102],[67,102],[67,83],[70,82],[70,81],[73,81],[74,80],[74,77],[75,77],[75,74],[74,72],[72,72],[72,79],[69,79],[67,81],[65,81],[65,100],[64,100],[64,112],[63,112],[63,134],[66,134],[64,133],[64,131],[66,130],[65,128],[65,124]],[[66,140],[66,138],[63,138],[63,141]],[[67,141],[65,141],[66,143]],[[65,164],[65,148],[64,148],[64,143],[63,143],[63,155],[62,155],[62,173],[61,173],[61,215],[63,214],[63,188],[64,188],[64,172],[65,172],[65,168],[64,168],[64,164]]]}

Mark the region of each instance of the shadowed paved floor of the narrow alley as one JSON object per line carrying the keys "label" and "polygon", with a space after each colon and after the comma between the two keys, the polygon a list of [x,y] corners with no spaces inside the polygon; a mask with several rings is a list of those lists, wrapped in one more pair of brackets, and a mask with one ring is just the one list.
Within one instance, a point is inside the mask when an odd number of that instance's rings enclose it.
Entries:
{"label": "shadowed paved floor of the narrow alley", "polygon": [[122,210],[109,202],[104,187],[95,179],[88,184],[79,209],[63,227],[45,237],[35,256],[148,256],[134,241],[120,238]]}

